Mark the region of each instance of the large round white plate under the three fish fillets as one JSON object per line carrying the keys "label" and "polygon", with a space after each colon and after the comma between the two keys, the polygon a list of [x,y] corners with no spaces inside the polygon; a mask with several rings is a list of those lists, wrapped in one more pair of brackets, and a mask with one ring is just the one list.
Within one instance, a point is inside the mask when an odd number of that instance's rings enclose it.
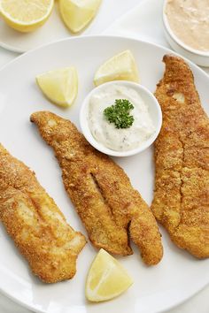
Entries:
{"label": "large round white plate under the three fish fillets", "polygon": [[[37,178],[58,203],[70,225],[86,234],[68,200],[58,163],[52,150],[43,142],[29,116],[34,111],[50,110],[71,118],[78,126],[79,109],[85,95],[93,88],[93,77],[104,60],[121,50],[130,49],[139,67],[141,82],[151,91],[164,73],[161,62],[169,50],[151,43],[109,36],[68,39],[30,51],[6,65],[0,72],[0,141],[12,155],[35,170]],[[49,103],[35,85],[35,75],[74,65],[79,73],[79,95],[73,107],[61,110]],[[209,78],[190,64],[205,110],[208,111]],[[207,105],[207,107],[206,107]],[[119,158],[133,185],[151,203],[153,189],[152,150],[137,156]],[[37,312],[70,313],[153,313],[170,309],[209,283],[209,260],[197,260],[176,248],[162,230],[165,255],[159,265],[146,267],[139,253],[120,257],[135,284],[111,302],[90,304],[85,301],[84,284],[89,264],[96,250],[88,244],[81,252],[74,279],[45,285],[30,273],[27,263],[0,228],[0,289],[13,300]]]}

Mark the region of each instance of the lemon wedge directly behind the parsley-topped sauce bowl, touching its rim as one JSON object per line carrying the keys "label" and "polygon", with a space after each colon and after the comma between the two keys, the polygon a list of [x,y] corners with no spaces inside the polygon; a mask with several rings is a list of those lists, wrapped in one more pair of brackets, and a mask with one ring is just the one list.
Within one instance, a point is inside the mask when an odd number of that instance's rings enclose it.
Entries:
{"label": "lemon wedge directly behind the parsley-topped sauce bowl, touching its rim", "polygon": [[95,74],[96,86],[111,80],[131,80],[138,82],[138,70],[135,58],[130,50],[125,50],[107,60]]}

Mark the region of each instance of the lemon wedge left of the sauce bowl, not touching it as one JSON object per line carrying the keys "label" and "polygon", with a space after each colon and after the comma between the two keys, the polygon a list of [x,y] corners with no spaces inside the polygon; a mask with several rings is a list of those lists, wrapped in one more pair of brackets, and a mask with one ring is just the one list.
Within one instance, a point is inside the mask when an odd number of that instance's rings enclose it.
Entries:
{"label": "lemon wedge left of the sauce bowl, not touching it", "polygon": [[78,75],[73,66],[38,75],[36,82],[52,103],[65,107],[74,103],[78,93]]}

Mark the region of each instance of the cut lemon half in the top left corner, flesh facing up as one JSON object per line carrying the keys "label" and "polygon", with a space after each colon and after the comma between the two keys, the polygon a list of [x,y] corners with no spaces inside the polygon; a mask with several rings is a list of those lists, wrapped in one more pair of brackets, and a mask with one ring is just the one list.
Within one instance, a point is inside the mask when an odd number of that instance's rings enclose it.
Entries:
{"label": "cut lemon half in the top left corner, flesh facing up", "polygon": [[32,32],[50,16],[54,0],[1,0],[0,11],[5,22],[19,32]]}

